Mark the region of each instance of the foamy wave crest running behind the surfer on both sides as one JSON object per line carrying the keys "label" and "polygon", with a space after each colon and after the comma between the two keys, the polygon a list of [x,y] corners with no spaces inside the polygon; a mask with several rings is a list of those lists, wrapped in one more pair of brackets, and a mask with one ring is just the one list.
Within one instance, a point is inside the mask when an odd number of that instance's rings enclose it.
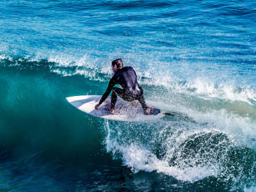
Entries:
{"label": "foamy wave crest running behind the surfer on both sides", "polygon": [[[67,56],[50,56],[49,58],[12,58],[4,54],[0,55],[0,62],[4,66],[19,68],[49,68],[53,73],[61,76],[84,76],[93,81],[107,82],[113,75],[109,61],[97,61],[84,55],[81,58],[70,58]],[[102,62],[102,63],[100,63]],[[7,65],[6,65],[7,63]],[[95,63],[100,63],[96,65]],[[146,69],[132,66],[138,74],[140,84],[156,86],[165,90],[172,90],[175,94],[195,96],[209,101],[246,102],[252,106],[256,105],[256,90],[250,85],[239,87],[234,82],[216,83],[196,77],[194,79],[180,79],[172,72],[162,71],[152,65]]]}

